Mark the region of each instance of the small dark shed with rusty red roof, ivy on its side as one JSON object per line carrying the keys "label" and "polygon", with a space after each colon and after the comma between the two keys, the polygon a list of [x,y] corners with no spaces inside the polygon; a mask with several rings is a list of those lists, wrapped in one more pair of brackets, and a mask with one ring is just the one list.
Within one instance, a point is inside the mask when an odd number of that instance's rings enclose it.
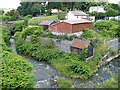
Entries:
{"label": "small dark shed with rusty red roof, ivy on its side", "polygon": [[94,46],[90,41],[75,39],[70,44],[71,52],[78,53],[78,52],[81,52],[84,48],[88,48],[88,51],[87,51],[87,54],[86,54],[87,57],[93,56]]}

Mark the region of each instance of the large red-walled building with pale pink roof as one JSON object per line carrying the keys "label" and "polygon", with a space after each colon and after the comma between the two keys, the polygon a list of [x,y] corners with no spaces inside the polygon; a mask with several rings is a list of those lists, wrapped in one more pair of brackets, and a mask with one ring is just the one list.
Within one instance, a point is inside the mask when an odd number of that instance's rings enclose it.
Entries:
{"label": "large red-walled building with pale pink roof", "polygon": [[49,26],[49,30],[54,33],[77,33],[83,31],[85,28],[92,29],[92,22],[81,20],[65,20]]}

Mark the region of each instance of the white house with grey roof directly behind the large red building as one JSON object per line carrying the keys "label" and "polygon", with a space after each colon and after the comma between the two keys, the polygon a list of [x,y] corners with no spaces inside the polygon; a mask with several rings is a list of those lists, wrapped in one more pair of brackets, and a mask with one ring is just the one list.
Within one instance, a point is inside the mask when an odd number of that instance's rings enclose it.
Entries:
{"label": "white house with grey roof directly behind the large red building", "polygon": [[87,14],[83,11],[69,11],[65,16],[66,20],[79,20],[79,19],[86,19]]}

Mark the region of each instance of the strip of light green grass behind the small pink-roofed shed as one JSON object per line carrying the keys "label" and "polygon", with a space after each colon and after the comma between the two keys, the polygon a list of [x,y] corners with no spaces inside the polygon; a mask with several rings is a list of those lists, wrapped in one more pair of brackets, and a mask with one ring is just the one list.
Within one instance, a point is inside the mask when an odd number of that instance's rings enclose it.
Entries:
{"label": "strip of light green grass behind the small pink-roofed shed", "polygon": [[44,20],[58,20],[57,16],[45,16],[43,18],[35,18],[35,19],[30,19],[28,21],[29,25],[38,25],[41,21]]}

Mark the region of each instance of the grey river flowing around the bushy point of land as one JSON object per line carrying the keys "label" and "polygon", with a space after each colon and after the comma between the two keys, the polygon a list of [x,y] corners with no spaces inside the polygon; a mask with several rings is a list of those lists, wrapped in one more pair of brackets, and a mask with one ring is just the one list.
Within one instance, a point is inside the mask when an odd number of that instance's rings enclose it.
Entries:
{"label": "grey river flowing around the bushy point of land", "polygon": [[[14,39],[10,39],[12,51],[16,52]],[[24,56],[23,56],[24,57]],[[37,83],[35,88],[56,88],[57,86],[53,84],[54,78],[65,78],[60,75],[52,66],[34,60],[32,58],[25,57],[28,62],[33,65],[34,69],[34,78]],[[109,79],[112,74],[118,73],[118,68],[120,68],[120,57],[110,62],[108,65],[102,66],[98,69],[96,75],[91,77],[90,80],[81,80],[81,79],[71,79],[74,88],[95,88],[92,83],[103,83],[104,80]],[[81,85],[80,85],[81,84]]]}

